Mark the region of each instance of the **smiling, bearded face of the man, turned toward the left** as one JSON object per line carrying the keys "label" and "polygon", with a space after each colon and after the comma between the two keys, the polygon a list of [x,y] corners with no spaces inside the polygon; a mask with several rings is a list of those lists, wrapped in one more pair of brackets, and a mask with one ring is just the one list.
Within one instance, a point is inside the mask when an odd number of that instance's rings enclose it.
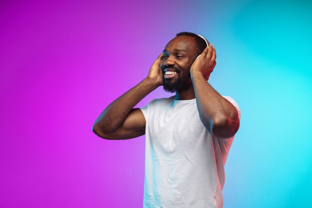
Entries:
{"label": "smiling, bearded face of the man, turned toward the left", "polygon": [[196,47],[195,39],[190,36],[177,36],[165,46],[160,63],[165,91],[181,91],[192,86],[189,70],[197,57]]}

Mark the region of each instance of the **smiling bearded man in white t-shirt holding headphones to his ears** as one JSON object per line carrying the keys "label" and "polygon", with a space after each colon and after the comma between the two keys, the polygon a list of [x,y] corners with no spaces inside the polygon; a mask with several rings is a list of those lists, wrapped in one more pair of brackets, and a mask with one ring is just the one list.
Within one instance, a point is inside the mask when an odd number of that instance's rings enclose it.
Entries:
{"label": "smiling bearded man in white t-shirt holding headphones to his ears", "polygon": [[[148,76],[112,102],[93,126],[110,140],[146,134],[144,208],[223,207],[224,164],[240,110],[207,82],[215,59],[215,48],[201,36],[178,33]],[[175,96],[134,108],[160,85]]]}

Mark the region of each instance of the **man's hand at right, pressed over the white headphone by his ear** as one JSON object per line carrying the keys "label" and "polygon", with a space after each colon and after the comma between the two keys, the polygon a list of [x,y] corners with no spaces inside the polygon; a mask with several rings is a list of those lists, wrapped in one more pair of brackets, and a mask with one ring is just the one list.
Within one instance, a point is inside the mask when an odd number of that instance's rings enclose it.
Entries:
{"label": "man's hand at right, pressed over the white headphone by his ear", "polygon": [[200,56],[193,62],[190,71],[198,71],[206,80],[208,80],[210,73],[216,65],[216,57],[216,49],[210,44],[209,48],[206,47]]}

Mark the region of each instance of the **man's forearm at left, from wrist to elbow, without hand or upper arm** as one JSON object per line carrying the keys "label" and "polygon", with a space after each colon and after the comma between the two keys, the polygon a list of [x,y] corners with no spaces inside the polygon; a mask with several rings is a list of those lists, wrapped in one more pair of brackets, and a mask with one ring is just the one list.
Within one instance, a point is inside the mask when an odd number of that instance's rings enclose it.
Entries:
{"label": "man's forearm at left, from wrist to elbow, without hand or upper arm", "polygon": [[93,128],[114,132],[122,125],[133,107],[156,88],[157,85],[151,79],[144,79],[107,106],[96,119]]}

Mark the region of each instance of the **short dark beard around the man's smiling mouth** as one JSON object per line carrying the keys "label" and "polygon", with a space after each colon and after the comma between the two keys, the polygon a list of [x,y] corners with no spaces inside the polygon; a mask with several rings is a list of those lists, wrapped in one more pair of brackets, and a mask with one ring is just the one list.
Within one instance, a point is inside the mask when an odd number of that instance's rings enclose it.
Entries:
{"label": "short dark beard around the man's smiling mouth", "polygon": [[184,72],[182,77],[180,77],[181,70],[178,70],[177,68],[174,69],[177,73],[177,78],[174,81],[171,81],[171,79],[166,80],[164,76],[162,76],[162,85],[164,91],[173,93],[175,91],[178,92],[188,89],[192,84],[190,72]]}

